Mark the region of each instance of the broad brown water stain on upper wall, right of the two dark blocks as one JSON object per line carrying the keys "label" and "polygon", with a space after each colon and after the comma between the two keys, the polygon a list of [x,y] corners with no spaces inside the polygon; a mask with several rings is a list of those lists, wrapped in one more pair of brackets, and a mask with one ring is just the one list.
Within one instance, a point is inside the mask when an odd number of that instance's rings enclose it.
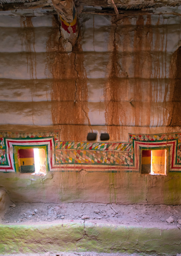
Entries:
{"label": "broad brown water stain on upper wall, right of the two dark blocks", "polygon": [[168,109],[164,103],[161,106],[169,92],[166,27],[163,23],[160,28],[159,18],[156,26],[151,19],[151,15],[139,15],[112,20],[113,51],[104,85],[108,132],[110,126],[167,125]]}

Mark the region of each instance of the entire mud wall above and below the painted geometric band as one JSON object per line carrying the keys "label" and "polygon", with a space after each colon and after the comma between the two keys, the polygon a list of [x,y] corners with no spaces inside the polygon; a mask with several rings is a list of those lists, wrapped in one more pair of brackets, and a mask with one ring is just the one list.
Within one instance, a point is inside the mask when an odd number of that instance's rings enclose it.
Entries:
{"label": "entire mud wall above and below the painted geometric band", "polygon": [[[1,130],[60,129],[62,141],[108,132],[180,132],[180,17],[81,14],[76,45],[62,45],[56,17],[0,15]],[[180,204],[180,173],[0,173],[12,201]],[[111,169],[111,168],[110,168]],[[134,191],[134,193],[133,193]]]}

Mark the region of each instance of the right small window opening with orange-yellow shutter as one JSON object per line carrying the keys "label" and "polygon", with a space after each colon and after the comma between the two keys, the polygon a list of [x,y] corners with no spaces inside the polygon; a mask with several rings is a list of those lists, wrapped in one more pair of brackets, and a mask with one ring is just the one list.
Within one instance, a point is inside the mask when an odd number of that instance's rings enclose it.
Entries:
{"label": "right small window opening with orange-yellow shutter", "polygon": [[141,173],[166,175],[166,149],[142,150]]}

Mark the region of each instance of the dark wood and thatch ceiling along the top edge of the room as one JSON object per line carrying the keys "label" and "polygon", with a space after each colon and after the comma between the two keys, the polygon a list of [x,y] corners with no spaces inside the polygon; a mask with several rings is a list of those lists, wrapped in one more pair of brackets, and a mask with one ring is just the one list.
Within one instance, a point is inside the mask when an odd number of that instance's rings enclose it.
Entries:
{"label": "dark wood and thatch ceiling along the top edge of the room", "polygon": [[[61,1],[61,0],[60,0]],[[69,1],[69,0],[66,0]],[[97,13],[115,15],[112,0],[75,0],[75,6],[78,12]],[[177,7],[181,5],[180,1],[134,1],[134,0],[114,0],[119,14],[125,11],[150,11],[159,7]],[[16,10],[16,9],[52,9],[51,0],[0,0],[0,10]]]}

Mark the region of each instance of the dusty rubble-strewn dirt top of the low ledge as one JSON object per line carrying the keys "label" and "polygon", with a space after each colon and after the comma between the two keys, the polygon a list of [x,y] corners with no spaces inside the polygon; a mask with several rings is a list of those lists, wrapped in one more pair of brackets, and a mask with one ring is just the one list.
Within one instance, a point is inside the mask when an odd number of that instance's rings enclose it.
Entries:
{"label": "dusty rubble-strewn dirt top of the low ledge", "polygon": [[2,224],[57,221],[116,222],[136,226],[168,226],[181,229],[181,205],[120,205],[102,203],[12,204]]}

